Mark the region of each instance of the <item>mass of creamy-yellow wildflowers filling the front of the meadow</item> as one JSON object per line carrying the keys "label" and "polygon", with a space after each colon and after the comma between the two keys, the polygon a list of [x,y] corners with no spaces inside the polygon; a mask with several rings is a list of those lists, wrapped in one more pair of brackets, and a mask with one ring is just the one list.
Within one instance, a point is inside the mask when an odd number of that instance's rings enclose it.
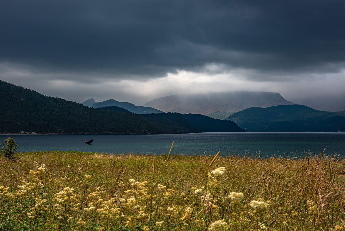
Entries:
{"label": "mass of creamy-yellow wildflowers filling the front of the meadow", "polygon": [[[99,231],[271,230],[274,219],[278,221],[273,229],[295,230],[297,226],[293,223],[302,216],[307,216],[311,223],[327,224],[323,213],[328,211],[322,211],[321,205],[317,207],[313,201],[292,209],[286,204],[264,200],[267,195],[263,190],[254,196],[262,195],[262,198],[246,203],[253,195],[245,198],[240,189],[247,192],[248,188],[233,184],[232,173],[224,174],[225,167],[209,171],[206,177],[203,174],[199,183],[205,186],[197,184],[197,187],[191,187],[190,182],[179,187],[172,181],[162,182],[165,178],[159,177],[141,181],[122,172],[116,177],[118,181],[104,184],[96,171],[92,175],[88,171],[79,173],[80,167],[71,163],[65,166],[69,176],[49,172],[45,164],[38,162],[32,169],[29,174],[27,170],[22,175],[13,171],[0,176],[2,182],[9,182],[0,185],[0,218],[4,222],[19,220],[35,230]],[[340,202],[333,206],[339,207]],[[306,214],[301,215],[302,207]],[[274,216],[272,211],[279,216]],[[50,220],[46,222],[48,217]],[[4,230],[15,230],[13,224],[9,227]],[[333,230],[345,230],[341,223],[333,227]]]}

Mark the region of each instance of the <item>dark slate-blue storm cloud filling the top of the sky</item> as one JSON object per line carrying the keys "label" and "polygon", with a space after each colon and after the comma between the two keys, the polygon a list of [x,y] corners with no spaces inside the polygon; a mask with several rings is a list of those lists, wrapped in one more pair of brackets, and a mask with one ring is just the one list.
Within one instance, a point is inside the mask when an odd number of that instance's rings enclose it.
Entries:
{"label": "dark slate-blue storm cloud filling the top of the sky", "polygon": [[341,0],[11,0],[0,6],[0,61],[45,71],[151,78],[207,63],[277,73],[344,68]]}

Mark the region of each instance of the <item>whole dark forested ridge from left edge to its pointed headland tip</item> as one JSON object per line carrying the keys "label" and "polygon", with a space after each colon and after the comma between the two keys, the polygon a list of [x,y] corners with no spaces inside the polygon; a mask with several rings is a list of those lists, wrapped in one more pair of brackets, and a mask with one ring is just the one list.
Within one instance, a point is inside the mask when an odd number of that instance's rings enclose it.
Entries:
{"label": "whole dark forested ridge from left edge to its pointed headland tip", "polygon": [[[179,113],[133,114],[85,107],[0,81],[0,133],[169,134],[244,132],[233,121]],[[199,121],[196,123],[196,121]]]}

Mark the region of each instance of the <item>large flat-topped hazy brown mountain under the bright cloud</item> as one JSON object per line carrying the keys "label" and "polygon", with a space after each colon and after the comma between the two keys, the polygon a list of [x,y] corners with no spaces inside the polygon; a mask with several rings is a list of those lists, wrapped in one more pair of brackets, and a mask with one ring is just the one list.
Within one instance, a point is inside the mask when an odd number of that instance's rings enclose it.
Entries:
{"label": "large flat-topped hazy brown mountain under the bright cloud", "polygon": [[216,111],[237,112],[250,107],[271,107],[294,104],[279,93],[223,92],[207,94],[179,94],[160,97],[144,104],[164,112],[209,114]]}

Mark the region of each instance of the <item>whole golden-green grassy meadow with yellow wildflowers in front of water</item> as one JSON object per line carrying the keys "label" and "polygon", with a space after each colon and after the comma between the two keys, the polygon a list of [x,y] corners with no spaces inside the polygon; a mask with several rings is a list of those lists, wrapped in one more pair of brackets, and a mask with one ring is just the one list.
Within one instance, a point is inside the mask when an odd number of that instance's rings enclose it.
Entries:
{"label": "whole golden-green grassy meadow with yellow wildflowers in front of water", "polygon": [[345,230],[336,156],[213,157],[0,157],[0,230]]}

